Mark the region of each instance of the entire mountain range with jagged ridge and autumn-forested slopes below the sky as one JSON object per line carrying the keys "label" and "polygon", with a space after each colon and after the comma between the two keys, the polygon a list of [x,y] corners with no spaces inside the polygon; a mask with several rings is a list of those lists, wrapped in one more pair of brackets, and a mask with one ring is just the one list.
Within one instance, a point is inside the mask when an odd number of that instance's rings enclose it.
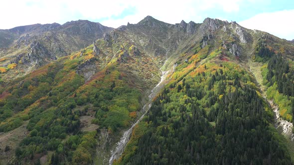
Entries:
{"label": "entire mountain range with jagged ridge and autumn-forested slopes below the sky", "polygon": [[293,164],[287,40],[151,16],[117,29],[79,20],[1,31],[9,35],[29,42],[1,49],[21,60],[0,68],[1,164]]}

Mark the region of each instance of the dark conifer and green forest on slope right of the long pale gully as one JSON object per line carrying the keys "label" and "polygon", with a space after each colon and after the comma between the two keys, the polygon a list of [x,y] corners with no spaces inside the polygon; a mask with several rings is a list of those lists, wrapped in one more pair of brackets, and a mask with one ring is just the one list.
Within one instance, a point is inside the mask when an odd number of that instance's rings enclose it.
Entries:
{"label": "dark conifer and green forest on slope right of the long pale gully", "polygon": [[245,70],[206,63],[160,93],[116,164],[290,165],[272,120]]}

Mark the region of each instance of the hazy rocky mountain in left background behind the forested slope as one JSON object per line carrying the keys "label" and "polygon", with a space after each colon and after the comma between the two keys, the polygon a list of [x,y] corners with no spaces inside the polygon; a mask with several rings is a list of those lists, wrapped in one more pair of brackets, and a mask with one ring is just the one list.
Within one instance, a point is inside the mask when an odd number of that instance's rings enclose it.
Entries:
{"label": "hazy rocky mountain in left background behind the forested slope", "polygon": [[17,65],[18,73],[6,74],[4,80],[22,77],[31,71],[102,38],[113,28],[88,20],[63,25],[34,24],[0,30],[0,67]]}

